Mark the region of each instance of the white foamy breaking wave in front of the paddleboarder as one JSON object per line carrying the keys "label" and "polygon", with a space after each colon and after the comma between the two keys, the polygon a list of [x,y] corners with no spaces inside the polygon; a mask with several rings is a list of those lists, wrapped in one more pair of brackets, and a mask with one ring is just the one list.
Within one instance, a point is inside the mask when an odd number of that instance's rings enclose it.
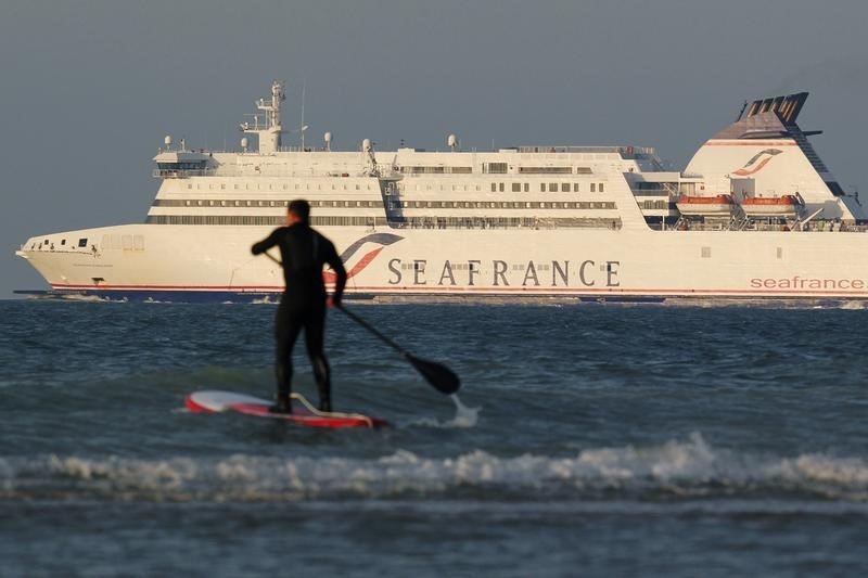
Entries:
{"label": "white foamy breaking wave in front of the paddleboarder", "polygon": [[574,457],[499,458],[471,451],[431,459],[397,451],[379,459],[75,455],[0,458],[0,499],[302,501],[447,499],[673,501],[706,498],[868,502],[868,461],[714,449],[700,435]]}

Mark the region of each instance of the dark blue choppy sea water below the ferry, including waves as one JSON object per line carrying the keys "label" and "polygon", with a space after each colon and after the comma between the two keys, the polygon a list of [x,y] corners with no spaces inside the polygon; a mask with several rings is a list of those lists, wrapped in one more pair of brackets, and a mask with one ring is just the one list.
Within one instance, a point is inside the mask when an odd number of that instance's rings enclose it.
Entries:
{"label": "dark blue choppy sea water below the ferry, including waves", "polygon": [[273,306],[0,301],[0,575],[868,573],[861,307],[348,307],[464,409],[333,311],[394,427],[189,413],[270,396]]}

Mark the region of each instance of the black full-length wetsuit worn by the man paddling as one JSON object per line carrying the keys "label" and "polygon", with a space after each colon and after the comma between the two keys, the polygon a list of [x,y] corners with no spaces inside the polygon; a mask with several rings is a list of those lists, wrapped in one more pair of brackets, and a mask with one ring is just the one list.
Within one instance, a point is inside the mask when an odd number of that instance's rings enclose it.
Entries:
{"label": "black full-length wetsuit worn by the man paddling", "polygon": [[336,275],[332,301],[341,305],[346,285],[346,270],[331,241],[307,223],[281,227],[267,239],[253,245],[254,255],[277,245],[283,262],[285,288],[275,318],[277,339],[277,409],[289,411],[292,382],[292,349],[302,329],[305,330],[307,355],[314,365],[319,390],[319,408],[331,411],[331,375],[322,350],[326,329],[326,284],[322,267],[328,264]]}

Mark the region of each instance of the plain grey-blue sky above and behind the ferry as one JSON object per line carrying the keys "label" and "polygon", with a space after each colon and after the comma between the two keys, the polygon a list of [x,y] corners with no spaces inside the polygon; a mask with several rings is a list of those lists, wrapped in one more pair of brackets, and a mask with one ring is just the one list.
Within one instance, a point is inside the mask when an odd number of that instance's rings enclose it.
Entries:
{"label": "plain grey-blue sky above and behind the ferry", "polygon": [[272,79],[284,128],[305,87],[307,144],[633,144],[676,169],[743,101],[808,91],[800,125],[868,191],[866,25],[865,0],[2,0],[0,298],[48,288],[29,236],[142,222],[164,136],[237,149]]}

